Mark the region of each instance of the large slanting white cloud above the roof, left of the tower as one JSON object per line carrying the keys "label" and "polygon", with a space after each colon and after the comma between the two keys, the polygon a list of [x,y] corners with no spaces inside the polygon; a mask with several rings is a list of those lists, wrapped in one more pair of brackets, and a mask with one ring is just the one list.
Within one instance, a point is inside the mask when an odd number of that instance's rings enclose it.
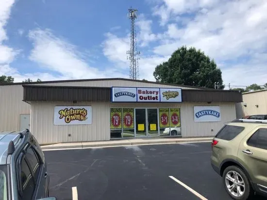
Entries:
{"label": "large slanting white cloud above the roof, left of the tower", "polygon": [[69,79],[114,77],[113,69],[100,69],[89,66],[84,61],[84,55],[77,47],[65,39],[56,37],[50,30],[35,29],[29,32],[29,38],[33,41],[33,50],[30,60],[39,66],[60,73]]}

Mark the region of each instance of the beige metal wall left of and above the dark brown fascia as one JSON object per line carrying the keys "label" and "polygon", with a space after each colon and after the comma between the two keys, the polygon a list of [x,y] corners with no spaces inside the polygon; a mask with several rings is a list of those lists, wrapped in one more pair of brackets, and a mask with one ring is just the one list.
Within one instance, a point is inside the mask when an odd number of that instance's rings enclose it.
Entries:
{"label": "beige metal wall left of and above the dark brown fascia", "polygon": [[[96,80],[62,83],[37,83],[36,85],[55,85],[55,86],[87,86],[87,87],[169,87],[177,86],[161,85],[156,83],[144,83],[127,80]],[[180,87],[182,89],[190,89]],[[0,86],[0,131],[19,131],[20,114],[30,114],[31,105],[22,101],[22,85],[2,85]]]}

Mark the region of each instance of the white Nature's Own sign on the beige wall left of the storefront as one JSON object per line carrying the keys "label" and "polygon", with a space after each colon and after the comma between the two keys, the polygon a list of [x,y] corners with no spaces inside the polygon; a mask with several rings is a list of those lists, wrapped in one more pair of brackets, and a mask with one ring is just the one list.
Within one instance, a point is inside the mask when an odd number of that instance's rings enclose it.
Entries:
{"label": "white Nature's Own sign on the beige wall left of the storefront", "polygon": [[54,108],[54,125],[80,125],[91,123],[91,106],[56,106]]}

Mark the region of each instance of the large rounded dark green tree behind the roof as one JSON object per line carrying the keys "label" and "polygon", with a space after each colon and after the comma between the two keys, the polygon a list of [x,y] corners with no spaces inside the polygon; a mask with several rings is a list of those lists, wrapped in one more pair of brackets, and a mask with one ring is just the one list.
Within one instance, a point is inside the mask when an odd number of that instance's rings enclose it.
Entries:
{"label": "large rounded dark green tree behind the roof", "polygon": [[216,62],[195,47],[178,48],[167,62],[156,66],[153,75],[162,83],[214,88],[218,82],[218,88],[224,88]]}

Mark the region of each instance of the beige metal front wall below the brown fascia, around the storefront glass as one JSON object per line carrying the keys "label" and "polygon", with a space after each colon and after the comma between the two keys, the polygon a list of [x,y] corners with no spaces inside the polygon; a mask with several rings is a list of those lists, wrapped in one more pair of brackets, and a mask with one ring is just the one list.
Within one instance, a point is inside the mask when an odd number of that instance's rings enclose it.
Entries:
{"label": "beige metal front wall below the brown fascia, around the storefront glass", "polygon": [[[92,106],[92,124],[53,125],[55,106]],[[194,106],[220,106],[221,122],[194,122]],[[181,108],[181,127],[183,137],[214,136],[225,122],[235,117],[234,103],[109,103],[109,102],[32,102],[31,131],[42,143],[97,141],[110,139],[110,108]],[[211,131],[213,129],[213,131]],[[68,134],[71,134],[68,137]]]}

